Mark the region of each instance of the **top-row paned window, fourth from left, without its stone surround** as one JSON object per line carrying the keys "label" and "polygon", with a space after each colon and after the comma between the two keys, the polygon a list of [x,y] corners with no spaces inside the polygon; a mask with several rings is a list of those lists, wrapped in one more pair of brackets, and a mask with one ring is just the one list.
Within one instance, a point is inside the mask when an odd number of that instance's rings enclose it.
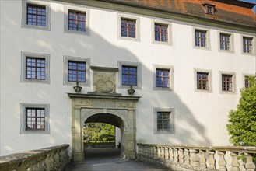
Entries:
{"label": "top-row paned window, fourth from left, without its stone surround", "polygon": [[162,42],[168,41],[168,26],[155,23],[155,40]]}

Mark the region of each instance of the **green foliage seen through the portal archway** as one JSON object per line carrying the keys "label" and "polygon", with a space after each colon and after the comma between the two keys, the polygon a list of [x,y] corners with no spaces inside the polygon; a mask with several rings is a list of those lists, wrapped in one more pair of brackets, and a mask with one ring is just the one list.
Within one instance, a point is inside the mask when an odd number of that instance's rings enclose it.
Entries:
{"label": "green foliage seen through the portal archway", "polygon": [[84,124],[83,136],[86,141],[111,141],[115,139],[114,126],[103,123]]}

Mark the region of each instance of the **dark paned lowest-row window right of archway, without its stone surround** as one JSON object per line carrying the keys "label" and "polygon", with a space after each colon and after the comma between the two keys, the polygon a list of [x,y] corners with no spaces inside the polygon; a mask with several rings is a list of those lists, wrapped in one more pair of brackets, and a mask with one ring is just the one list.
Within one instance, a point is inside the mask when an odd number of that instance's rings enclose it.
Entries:
{"label": "dark paned lowest-row window right of archway, without its stone surround", "polygon": [[157,112],[157,131],[170,130],[170,112]]}

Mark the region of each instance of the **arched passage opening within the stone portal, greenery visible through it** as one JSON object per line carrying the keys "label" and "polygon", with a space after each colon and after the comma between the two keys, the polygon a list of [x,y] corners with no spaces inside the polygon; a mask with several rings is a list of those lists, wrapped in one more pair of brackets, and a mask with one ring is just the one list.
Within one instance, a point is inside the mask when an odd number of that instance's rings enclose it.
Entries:
{"label": "arched passage opening within the stone portal, greenery visible through it", "polygon": [[97,113],[84,122],[85,159],[124,157],[124,122],[110,113]]}

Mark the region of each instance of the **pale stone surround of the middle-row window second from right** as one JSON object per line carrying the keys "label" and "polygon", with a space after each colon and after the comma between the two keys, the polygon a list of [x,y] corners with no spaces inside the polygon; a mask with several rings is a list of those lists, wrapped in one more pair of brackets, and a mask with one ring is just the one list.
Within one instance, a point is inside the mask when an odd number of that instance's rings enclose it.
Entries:
{"label": "pale stone surround of the middle-row window second from right", "polygon": [[[232,91],[223,91],[223,75],[232,75]],[[236,84],[236,72],[225,72],[219,71],[219,93],[221,94],[237,94],[237,84]]]}

